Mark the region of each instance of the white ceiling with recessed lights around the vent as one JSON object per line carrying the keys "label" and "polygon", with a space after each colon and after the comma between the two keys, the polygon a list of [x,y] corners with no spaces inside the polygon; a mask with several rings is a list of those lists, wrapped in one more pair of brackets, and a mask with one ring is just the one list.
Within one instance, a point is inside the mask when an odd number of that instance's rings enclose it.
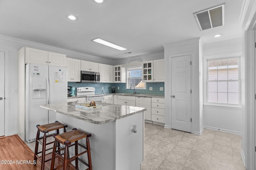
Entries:
{"label": "white ceiling with recessed lights around the vent", "polygon": [[[200,31],[193,13],[223,3],[225,25]],[[203,43],[240,38],[241,8],[242,0],[0,0],[0,34],[116,60],[161,53],[162,45],[195,37]],[[96,37],[127,50],[90,41]]]}

